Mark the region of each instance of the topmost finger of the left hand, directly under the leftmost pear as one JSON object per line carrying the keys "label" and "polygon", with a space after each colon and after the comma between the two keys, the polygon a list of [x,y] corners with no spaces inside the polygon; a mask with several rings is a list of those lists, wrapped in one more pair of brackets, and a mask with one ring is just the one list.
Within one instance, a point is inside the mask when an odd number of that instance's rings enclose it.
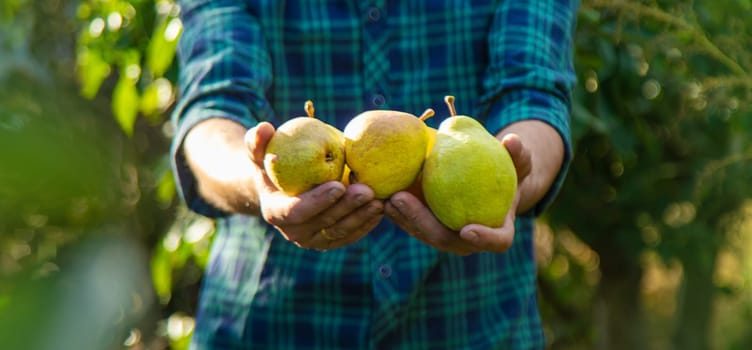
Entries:
{"label": "topmost finger of the left hand, directly under the leftmost pear", "polygon": [[298,196],[271,191],[262,197],[262,213],[273,225],[302,225],[331,207],[344,193],[345,186],[339,181],[326,182]]}

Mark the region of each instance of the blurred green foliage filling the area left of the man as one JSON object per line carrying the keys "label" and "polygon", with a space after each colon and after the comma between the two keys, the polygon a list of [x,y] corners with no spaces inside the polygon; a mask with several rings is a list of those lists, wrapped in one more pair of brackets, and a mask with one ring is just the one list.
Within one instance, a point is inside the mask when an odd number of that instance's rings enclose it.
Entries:
{"label": "blurred green foliage filling the area left of the man", "polygon": [[177,205],[167,157],[177,14],[0,6],[3,349],[186,347],[213,226]]}

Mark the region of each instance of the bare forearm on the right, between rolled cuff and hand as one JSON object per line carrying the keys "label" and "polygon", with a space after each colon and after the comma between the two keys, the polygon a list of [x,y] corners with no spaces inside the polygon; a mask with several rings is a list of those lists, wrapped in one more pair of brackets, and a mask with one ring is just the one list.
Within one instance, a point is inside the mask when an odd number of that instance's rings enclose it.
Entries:
{"label": "bare forearm on the right, between rolled cuff and hand", "polygon": [[524,120],[502,129],[497,138],[517,134],[530,153],[530,173],[519,184],[520,203],[517,213],[532,209],[549,191],[562,169],[564,141],[559,132],[540,120]]}

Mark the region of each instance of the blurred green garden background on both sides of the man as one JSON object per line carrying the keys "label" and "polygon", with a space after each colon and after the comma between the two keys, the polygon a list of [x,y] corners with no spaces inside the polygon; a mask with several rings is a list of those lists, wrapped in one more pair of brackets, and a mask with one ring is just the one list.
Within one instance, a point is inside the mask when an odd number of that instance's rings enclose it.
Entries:
{"label": "blurred green garden background on both sides of the man", "polygon": [[[0,2],[0,348],[183,349],[212,222],[175,195],[174,0]],[[583,0],[539,220],[551,349],[752,348],[752,0]]]}

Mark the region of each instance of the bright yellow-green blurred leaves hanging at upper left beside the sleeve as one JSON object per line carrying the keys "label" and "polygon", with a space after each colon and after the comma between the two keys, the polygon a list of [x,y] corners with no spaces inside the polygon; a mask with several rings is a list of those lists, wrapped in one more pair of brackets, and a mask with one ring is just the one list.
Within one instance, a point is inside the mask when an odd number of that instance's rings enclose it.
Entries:
{"label": "bright yellow-green blurred leaves hanging at upper left beside the sleeve", "polygon": [[180,8],[171,0],[81,1],[77,18],[77,69],[82,94],[92,98],[113,74],[112,112],[120,127],[133,134],[139,114],[160,123],[174,100]]}

